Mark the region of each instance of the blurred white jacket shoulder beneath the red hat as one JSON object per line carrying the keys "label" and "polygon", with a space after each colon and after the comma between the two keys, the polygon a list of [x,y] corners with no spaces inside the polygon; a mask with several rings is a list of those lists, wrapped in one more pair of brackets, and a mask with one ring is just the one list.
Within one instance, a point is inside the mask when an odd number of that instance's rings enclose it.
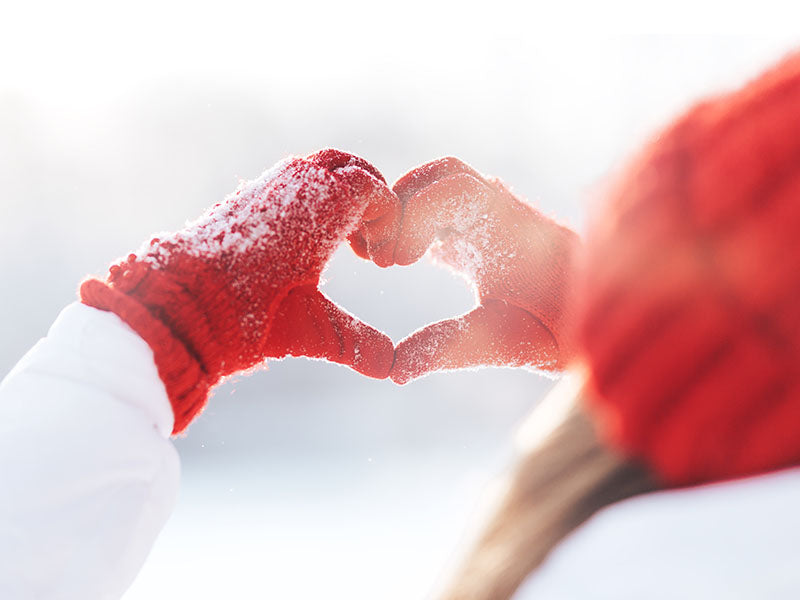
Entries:
{"label": "blurred white jacket shoulder beneath the red hat", "polygon": [[800,469],[647,494],[566,538],[514,600],[800,597]]}

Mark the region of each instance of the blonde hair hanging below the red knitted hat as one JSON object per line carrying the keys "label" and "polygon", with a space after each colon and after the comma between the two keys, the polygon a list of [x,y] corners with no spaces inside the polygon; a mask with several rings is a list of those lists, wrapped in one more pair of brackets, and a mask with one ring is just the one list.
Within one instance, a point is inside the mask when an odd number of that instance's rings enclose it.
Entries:
{"label": "blonde hair hanging below the red knitted hat", "polygon": [[601,508],[658,489],[598,439],[581,386],[557,387],[531,415],[504,496],[442,600],[510,598],[571,531]]}

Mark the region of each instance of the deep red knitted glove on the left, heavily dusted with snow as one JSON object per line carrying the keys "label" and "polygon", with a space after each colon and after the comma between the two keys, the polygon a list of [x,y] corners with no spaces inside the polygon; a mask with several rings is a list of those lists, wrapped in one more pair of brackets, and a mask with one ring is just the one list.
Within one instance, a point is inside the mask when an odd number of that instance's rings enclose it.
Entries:
{"label": "deep red knitted glove on the left, heavily dusted with snow", "polygon": [[317,285],[348,234],[359,228],[380,254],[381,232],[399,217],[366,161],[337,150],[287,159],[112,266],[106,282],[85,281],[81,300],[116,313],[151,346],[181,432],[221,378],[265,358],[325,358],[386,377],[391,340]]}

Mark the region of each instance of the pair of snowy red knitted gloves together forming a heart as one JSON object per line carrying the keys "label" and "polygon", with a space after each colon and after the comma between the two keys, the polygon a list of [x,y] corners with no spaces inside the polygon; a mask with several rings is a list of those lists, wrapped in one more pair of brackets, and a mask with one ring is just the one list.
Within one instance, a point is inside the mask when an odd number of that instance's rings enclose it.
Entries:
{"label": "pair of snowy red knitted gloves together forming a heart", "polygon": [[[435,255],[474,282],[479,306],[395,349],[318,289],[349,238],[378,266]],[[292,158],[245,182],[181,231],[153,238],[89,279],[81,300],[116,313],[153,349],[183,431],[222,378],[266,358],[324,358],[405,383],[476,365],[559,368],[565,279],[576,236],[452,158],[391,190],[338,150]]]}

